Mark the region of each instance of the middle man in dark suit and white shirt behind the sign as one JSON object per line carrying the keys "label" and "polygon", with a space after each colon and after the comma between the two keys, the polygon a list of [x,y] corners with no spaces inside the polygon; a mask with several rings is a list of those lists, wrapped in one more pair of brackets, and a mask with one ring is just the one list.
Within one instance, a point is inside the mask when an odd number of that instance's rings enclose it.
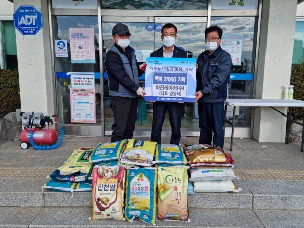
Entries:
{"label": "middle man in dark suit and white shirt behind the sign", "polygon": [[[165,58],[187,58],[187,53],[174,45],[176,40],[177,28],[174,24],[165,24],[162,28],[161,39],[163,47],[151,53],[151,57]],[[169,112],[169,120],[171,125],[170,144],[179,145],[180,128],[182,117],[182,102],[153,102],[153,119],[151,141],[161,144],[162,128],[165,120],[166,112]]]}

